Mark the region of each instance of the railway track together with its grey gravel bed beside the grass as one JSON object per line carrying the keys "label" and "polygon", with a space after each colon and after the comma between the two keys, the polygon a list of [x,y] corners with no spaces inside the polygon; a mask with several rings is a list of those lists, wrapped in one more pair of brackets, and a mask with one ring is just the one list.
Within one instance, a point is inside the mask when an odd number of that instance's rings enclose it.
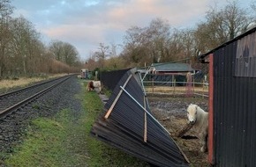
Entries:
{"label": "railway track together with its grey gravel bed beside the grass", "polygon": [[[50,82],[44,87],[34,85],[33,89],[28,88],[30,91],[25,89],[23,92],[13,91],[9,95],[0,95],[1,167],[7,155],[12,155],[15,151],[13,148],[23,141],[23,135],[26,134],[32,120],[54,117],[56,113],[67,108],[72,111],[72,114],[79,115],[81,104],[79,99],[74,97],[80,93],[80,86],[76,76],[66,76],[57,78],[56,81]],[[32,92],[32,90],[34,91]],[[35,95],[36,93],[38,94]],[[21,94],[23,95],[21,96]],[[4,110],[7,112],[3,113]]]}

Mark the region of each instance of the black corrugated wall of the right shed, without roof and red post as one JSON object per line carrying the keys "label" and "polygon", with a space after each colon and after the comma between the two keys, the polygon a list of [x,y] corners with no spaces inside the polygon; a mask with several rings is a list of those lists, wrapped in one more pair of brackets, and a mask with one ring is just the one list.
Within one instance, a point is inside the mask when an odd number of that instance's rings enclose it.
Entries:
{"label": "black corrugated wall of the right shed, without roof and red post", "polygon": [[256,70],[237,76],[238,42],[214,52],[214,159],[220,167],[256,166]]}

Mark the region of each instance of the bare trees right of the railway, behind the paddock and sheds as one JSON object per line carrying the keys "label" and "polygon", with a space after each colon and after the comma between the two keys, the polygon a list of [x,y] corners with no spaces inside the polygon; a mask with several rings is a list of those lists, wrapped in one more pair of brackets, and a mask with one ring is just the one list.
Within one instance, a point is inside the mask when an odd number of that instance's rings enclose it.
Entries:
{"label": "bare trees right of the railway, behind the paddock and sheds", "polygon": [[184,29],[172,27],[168,20],[154,18],[145,27],[132,26],[125,32],[120,54],[117,54],[119,45],[101,43],[87,60],[87,68],[124,69],[177,60],[200,66],[200,54],[255,26],[255,9],[253,3],[242,8],[237,1],[221,8],[210,7],[203,21]]}

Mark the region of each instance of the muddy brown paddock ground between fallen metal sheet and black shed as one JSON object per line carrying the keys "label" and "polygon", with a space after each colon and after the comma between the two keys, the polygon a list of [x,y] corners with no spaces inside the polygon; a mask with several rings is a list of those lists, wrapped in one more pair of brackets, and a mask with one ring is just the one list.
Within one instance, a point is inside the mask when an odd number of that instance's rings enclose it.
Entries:
{"label": "muddy brown paddock ground between fallen metal sheet and black shed", "polygon": [[177,145],[184,151],[191,166],[207,167],[207,153],[200,152],[200,141],[196,138],[192,129],[178,138],[177,134],[186,126],[186,108],[190,104],[197,104],[206,112],[208,111],[207,98],[169,98],[169,97],[147,97],[150,110],[163,127],[169,131]]}

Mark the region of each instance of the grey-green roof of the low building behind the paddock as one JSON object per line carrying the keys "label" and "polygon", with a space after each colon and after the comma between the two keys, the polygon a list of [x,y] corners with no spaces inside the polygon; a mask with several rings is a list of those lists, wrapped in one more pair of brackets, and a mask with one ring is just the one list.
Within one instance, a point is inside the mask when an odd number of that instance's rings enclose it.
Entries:
{"label": "grey-green roof of the low building behind the paddock", "polygon": [[188,72],[195,70],[188,63],[153,63],[151,67],[154,67],[155,71],[167,72]]}

